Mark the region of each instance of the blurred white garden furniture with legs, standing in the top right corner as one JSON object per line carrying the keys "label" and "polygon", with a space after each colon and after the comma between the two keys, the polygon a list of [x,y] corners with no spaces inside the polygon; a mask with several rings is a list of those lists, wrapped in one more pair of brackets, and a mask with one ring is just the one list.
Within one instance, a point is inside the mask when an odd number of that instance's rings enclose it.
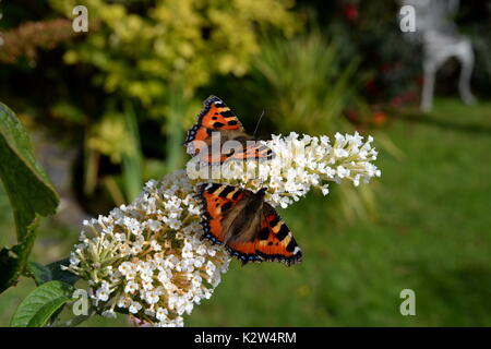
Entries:
{"label": "blurred white garden furniture with legs, standing in the top right corner", "polygon": [[460,62],[458,92],[466,104],[475,101],[470,92],[474,51],[469,38],[460,35],[451,15],[458,10],[458,0],[402,0],[403,5],[416,10],[416,33],[406,38],[419,41],[423,48],[423,88],[421,109],[429,111],[433,104],[434,79],[438,70],[452,57]]}

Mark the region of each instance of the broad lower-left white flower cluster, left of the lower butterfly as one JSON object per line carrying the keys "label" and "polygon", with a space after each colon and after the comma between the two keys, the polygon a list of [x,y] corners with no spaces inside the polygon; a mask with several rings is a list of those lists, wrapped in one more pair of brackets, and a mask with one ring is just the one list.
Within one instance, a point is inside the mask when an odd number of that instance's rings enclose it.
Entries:
{"label": "broad lower-left white flower cluster, left of the lower butterfly", "polygon": [[203,234],[193,185],[183,170],[149,181],[129,206],[84,222],[65,269],[88,280],[105,316],[124,310],[141,323],[182,326],[228,269],[225,249]]}

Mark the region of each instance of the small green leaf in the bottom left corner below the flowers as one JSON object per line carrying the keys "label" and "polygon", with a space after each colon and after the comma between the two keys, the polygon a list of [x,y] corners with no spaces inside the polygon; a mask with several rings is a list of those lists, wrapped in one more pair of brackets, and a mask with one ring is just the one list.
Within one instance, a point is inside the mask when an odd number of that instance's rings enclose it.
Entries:
{"label": "small green leaf in the bottom left corner below the flowers", "polygon": [[51,315],[72,301],[74,288],[62,281],[49,281],[32,291],[12,317],[12,327],[40,327]]}

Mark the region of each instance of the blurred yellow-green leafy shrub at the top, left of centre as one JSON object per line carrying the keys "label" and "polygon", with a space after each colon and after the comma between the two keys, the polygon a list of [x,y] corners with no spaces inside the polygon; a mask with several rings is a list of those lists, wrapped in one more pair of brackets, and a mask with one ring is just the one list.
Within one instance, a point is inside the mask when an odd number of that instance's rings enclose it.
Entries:
{"label": "blurred yellow-green leafy shrub at the top, left of centre", "polygon": [[76,4],[89,9],[95,29],[64,53],[69,64],[97,68],[93,82],[107,93],[136,98],[153,117],[166,115],[176,85],[187,97],[214,74],[243,75],[259,51],[258,27],[292,34],[290,1],[170,0],[108,3],[50,0],[71,16]]}

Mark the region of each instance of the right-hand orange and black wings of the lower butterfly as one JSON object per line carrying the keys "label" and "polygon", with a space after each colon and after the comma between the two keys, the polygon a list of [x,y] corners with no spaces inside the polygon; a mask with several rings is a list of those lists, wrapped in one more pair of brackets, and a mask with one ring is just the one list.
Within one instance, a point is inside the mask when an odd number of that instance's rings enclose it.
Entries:
{"label": "right-hand orange and black wings of the lower butterfly", "polygon": [[276,210],[264,203],[261,230],[254,241],[233,241],[227,245],[231,255],[239,257],[242,264],[248,262],[282,262],[286,265],[300,263],[302,252],[294,234]]}

